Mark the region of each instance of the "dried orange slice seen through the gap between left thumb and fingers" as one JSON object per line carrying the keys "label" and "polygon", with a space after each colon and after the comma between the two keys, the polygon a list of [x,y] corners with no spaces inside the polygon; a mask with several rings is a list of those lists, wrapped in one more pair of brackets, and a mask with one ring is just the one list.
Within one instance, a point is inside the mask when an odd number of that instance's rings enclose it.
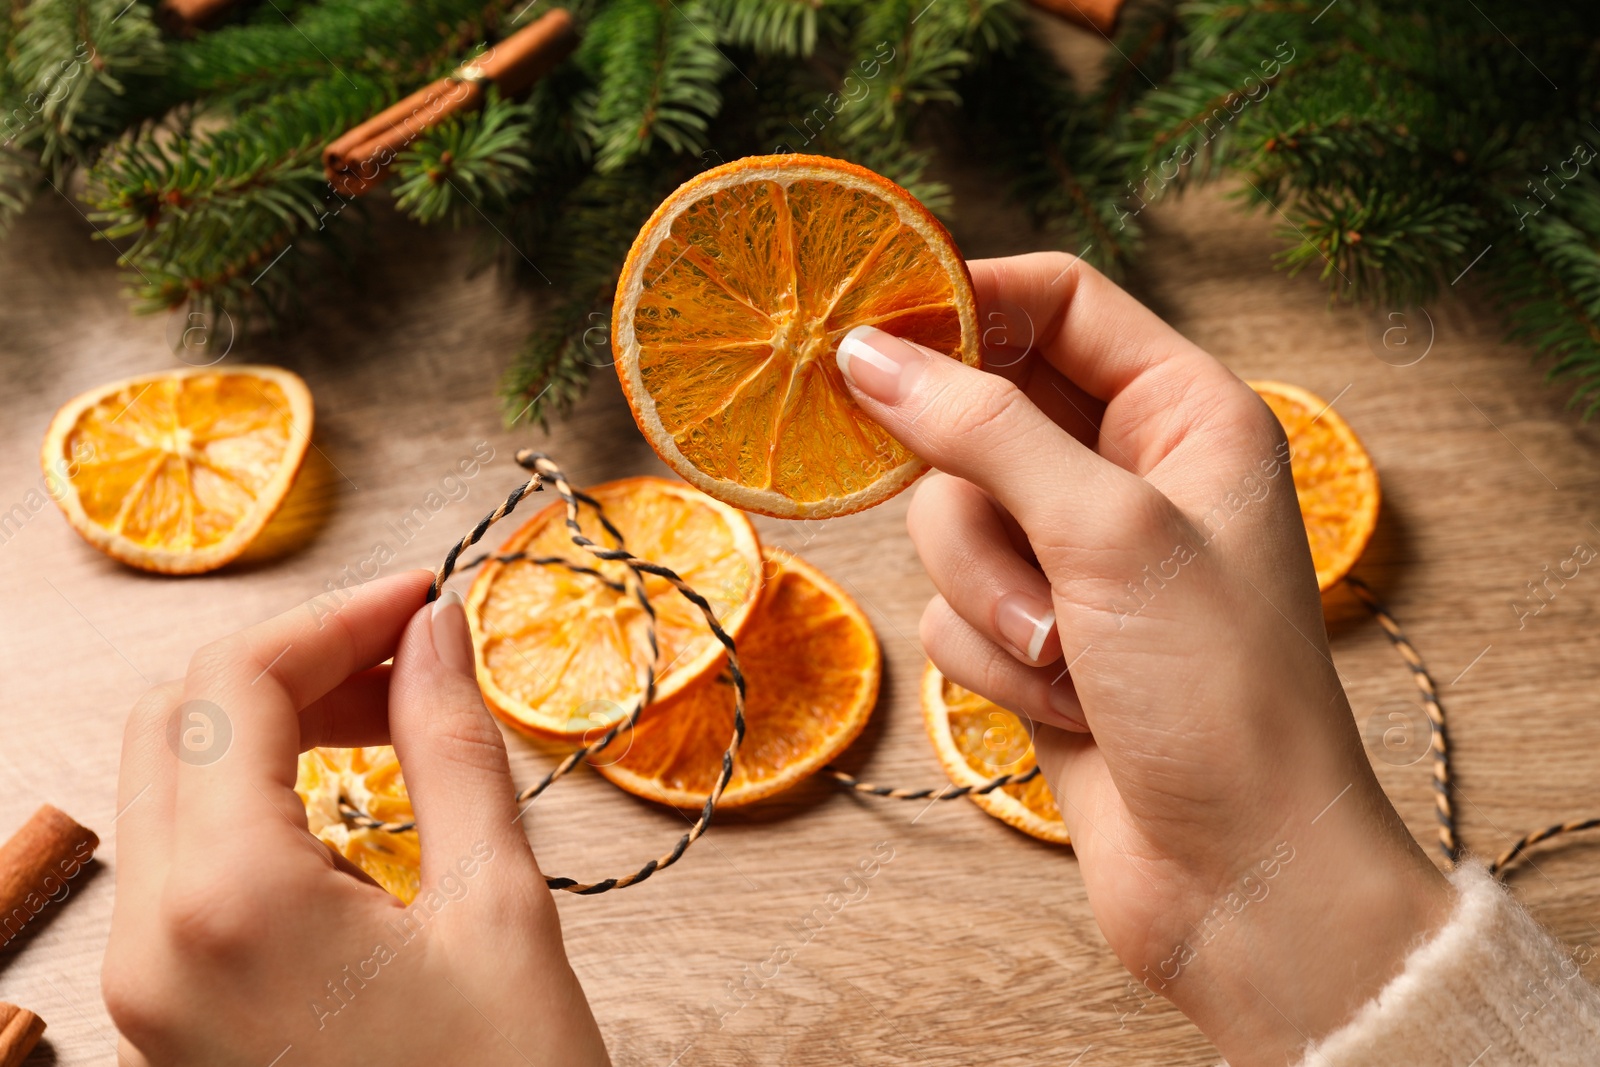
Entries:
{"label": "dried orange slice seen through the gap between left thumb and fingers", "polygon": [[333,846],[406,904],[416,899],[422,870],[416,830],[389,833],[352,827],[339,814],[342,795],[374,819],[411,819],[411,797],[392,747],[301,752],[294,792],[306,805],[307,827],[320,841]]}

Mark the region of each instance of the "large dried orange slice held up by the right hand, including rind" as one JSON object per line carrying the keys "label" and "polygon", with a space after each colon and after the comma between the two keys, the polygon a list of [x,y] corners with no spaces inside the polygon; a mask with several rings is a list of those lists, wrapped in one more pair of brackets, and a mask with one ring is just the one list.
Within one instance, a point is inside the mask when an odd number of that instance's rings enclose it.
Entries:
{"label": "large dried orange slice held up by the right hand, including rind", "polygon": [[822,518],[925,470],[845,389],[834,350],[861,325],[979,363],[966,264],[909,192],[842,160],[752,155],[685,182],[645,222],[611,347],[669,467],[742,509]]}

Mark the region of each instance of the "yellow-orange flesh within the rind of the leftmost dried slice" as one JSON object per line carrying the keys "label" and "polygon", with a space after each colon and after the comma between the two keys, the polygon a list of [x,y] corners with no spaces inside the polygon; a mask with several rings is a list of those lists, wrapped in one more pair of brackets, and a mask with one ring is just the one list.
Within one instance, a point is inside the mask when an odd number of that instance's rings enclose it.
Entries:
{"label": "yellow-orange flesh within the rind of the leftmost dried slice", "polygon": [[290,400],[274,381],[168,378],[83,411],[62,459],[78,461],[72,485],[90,522],[141,547],[205,549],[256,509],[291,432]]}

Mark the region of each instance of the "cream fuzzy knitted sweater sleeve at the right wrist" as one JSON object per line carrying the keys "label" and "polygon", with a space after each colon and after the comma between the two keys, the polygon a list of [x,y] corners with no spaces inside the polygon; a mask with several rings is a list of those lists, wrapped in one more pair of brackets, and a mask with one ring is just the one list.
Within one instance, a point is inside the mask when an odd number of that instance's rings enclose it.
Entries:
{"label": "cream fuzzy knitted sweater sleeve at the right wrist", "polygon": [[1301,1067],[1595,1067],[1600,989],[1480,864],[1450,880],[1456,910]]}

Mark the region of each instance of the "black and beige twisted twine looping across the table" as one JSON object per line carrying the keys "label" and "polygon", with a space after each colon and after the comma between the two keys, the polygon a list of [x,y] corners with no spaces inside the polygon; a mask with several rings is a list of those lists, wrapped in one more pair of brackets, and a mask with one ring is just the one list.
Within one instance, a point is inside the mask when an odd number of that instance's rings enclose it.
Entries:
{"label": "black and beige twisted twine looping across the table", "polygon": [[[562,472],[562,469],[557,467],[549,456],[525,448],[517,453],[517,464],[530,472],[530,478],[522,485],[518,485],[515,490],[512,490],[510,494],[494,510],[480,518],[478,523],[466,536],[461,537],[461,541],[451,545],[450,552],[445,555],[445,561],[438,566],[438,571],[435,571],[434,574],[434,584],[427,590],[427,601],[432,603],[434,600],[438,598],[440,590],[443,589],[445,582],[450,581],[451,574],[454,574],[456,571],[474,569],[488,560],[494,560],[498,563],[526,561],[539,566],[563,566],[573,571],[574,574],[587,574],[619,593],[626,592],[635,597],[640,606],[643,608],[645,617],[648,621],[646,635],[650,640],[650,653],[651,653],[650,664],[646,664],[645,667],[643,693],[640,693],[634,699],[634,704],[627,710],[627,713],[622,715],[616,723],[613,723],[595,741],[563,757],[560,763],[557,763],[538,782],[518,792],[517,793],[517,803],[520,805],[517,811],[518,819],[522,817],[523,813],[526,813],[528,806],[534,800],[538,800],[539,795],[544,793],[544,790],[547,790],[557,781],[565,777],[568,771],[571,771],[584,760],[595,757],[600,752],[605,752],[605,749],[610,747],[611,742],[614,742],[618,737],[630,731],[638,723],[638,717],[643,713],[645,707],[654,699],[656,696],[654,661],[659,657],[659,646],[656,641],[656,609],[654,606],[651,606],[650,598],[645,595],[645,584],[643,584],[645,574],[654,574],[658,577],[666,579],[669,584],[672,584],[672,587],[678,592],[678,595],[693,603],[706,617],[706,625],[710,629],[712,635],[717,638],[717,641],[723,646],[723,649],[728,654],[726,669],[730,678],[733,680],[733,693],[734,693],[733,734],[728,737],[728,747],[722,753],[722,769],[717,774],[717,781],[712,785],[710,795],[706,797],[706,803],[701,808],[699,817],[694,819],[693,825],[690,825],[690,829],[682,837],[678,837],[678,840],[674,843],[670,849],[667,849],[656,859],[651,859],[650,862],[646,862],[643,867],[638,867],[632,873],[626,873],[616,878],[603,878],[600,881],[578,881],[576,878],[563,878],[555,875],[546,875],[544,878],[546,885],[550,886],[552,889],[563,889],[566,893],[576,893],[582,896],[608,893],[611,889],[622,889],[630,885],[638,885],[640,881],[645,881],[646,878],[654,875],[658,870],[664,870],[666,867],[670,867],[672,864],[678,862],[688,851],[690,845],[698,841],[710,827],[712,817],[717,814],[717,803],[722,800],[723,790],[733,779],[733,766],[734,760],[739,755],[739,745],[744,742],[746,680],[742,670],[739,669],[739,656],[733,637],[726,630],[723,630],[722,625],[717,622],[715,611],[712,611],[710,603],[701,593],[698,593],[686,581],[683,581],[670,568],[662,566],[659,563],[651,563],[650,560],[642,560],[635,557],[632,552],[629,552],[627,547],[624,545],[622,533],[606,517],[605,509],[600,506],[600,502],[595,498],[579,490],[574,490],[573,485],[568,482],[566,475]],[[587,555],[594,557],[595,560],[622,563],[627,568],[629,577],[626,577],[624,581],[616,581],[608,577],[605,573],[602,573],[594,566],[586,566],[566,557],[531,557],[526,552],[514,552],[507,555],[494,555],[491,552],[485,552],[469,560],[467,563],[461,563],[461,555],[467,549],[475,545],[478,541],[482,541],[483,534],[488,533],[490,526],[510,515],[512,510],[515,510],[517,506],[523,501],[523,498],[526,498],[531,493],[542,491],[546,485],[554,486],[557,496],[560,496],[562,502],[565,504],[566,509],[565,522],[573,544],[582,549]],[[579,504],[587,504],[589,507],[594,509],[595,517],[600,522],[600,526],[605,530],[606,536],[610,536],[616,542],[616,547],[602,545],[592,541],[587,534],[584,534],[578,522]],[[1438,699],[1438,686],[1434,683],[1434,677],[1429,673],[1427,665],[1422,662],[1422,656],[1416,651],[1416,646],[1411,645],[1411,640],[1405,635],[1405,630],[1400,629],[1400,624],[1395,621],[1394,614],[1390,614],[1389,609],[1384,606],[1384,603],[1378,600],[1378,595],[1373,593],[1371,587],[1362,579],[1355,577],[1354,574],[1346,576],[1344,581],[1350,585],[1355,597],[1366,606],[1366,609],[1373,614],[1373,617],[1378,619],[1378,624],[1389,637],[1389,641],[1400,653],[1402,659],[1405,659],[1406,667],[1410,667],[1411,678],[1416,681],[1416,686],[1422,694],[1422,705],[1427,710],[1427,718],[1429,723],[1432,725],[1430,755],[1434,758],[1434,806],[1438,816],[1438,849],[1445,854],[1448,864],[1454,865],[1461,859],[1461,838],[1456,833],[1454,785],[1450,771],[1450,734],[1445,729],[1445,707],[1443,704],[1440,704]],[[1038,777],[1040,768],[1035,765],[1027,771],[1018,774],[1000,774],[982,784],[957,785],[950,782],[942,787],[928,787],[928,789],[896,789],[890,785],[875,785],[872,782],[862,782],[854,776],[840,771],[835,766],[829,766],[827,773],[834,777],[835,782],[854,790],[856,793],[862,793],[867,797],[883,797],[888,800],[936,801],[936,800],[957,800],[960,797],[970,797],[970,795],[981,797],[997,789],[1005,789],[1006,785],[1021,785],[1024,782],[1030,782],[1035,777]],[[350,825],[362,829],[379,830],[386,833],[402,833],[405,830],[416,829],[414,819],[405,822],[384,822],[381,819],[374,819],[373,816],[366,814],[365,811],[358,809],[354,803],[350,803],[347,797],[339,797],[339,813]],[[1526,833],[1518,841],[1515,841],[1509,849],[1506,849],[1490,865],[1490,873],[1493,873],[1498,878],[1504,878],[1507,867],[1514,865],[1518,859],[1522,859],[1523,854],[1534,845],[1547,841],[1549,838],[1562,833],[1573,833],[1578,830],[1589,830],[1594,827],[1600,827],[1600,817],[1573,819],[1568,822],[1560,822],[1546,827],[1542,830],[1534,830],[1531,833]]]}

